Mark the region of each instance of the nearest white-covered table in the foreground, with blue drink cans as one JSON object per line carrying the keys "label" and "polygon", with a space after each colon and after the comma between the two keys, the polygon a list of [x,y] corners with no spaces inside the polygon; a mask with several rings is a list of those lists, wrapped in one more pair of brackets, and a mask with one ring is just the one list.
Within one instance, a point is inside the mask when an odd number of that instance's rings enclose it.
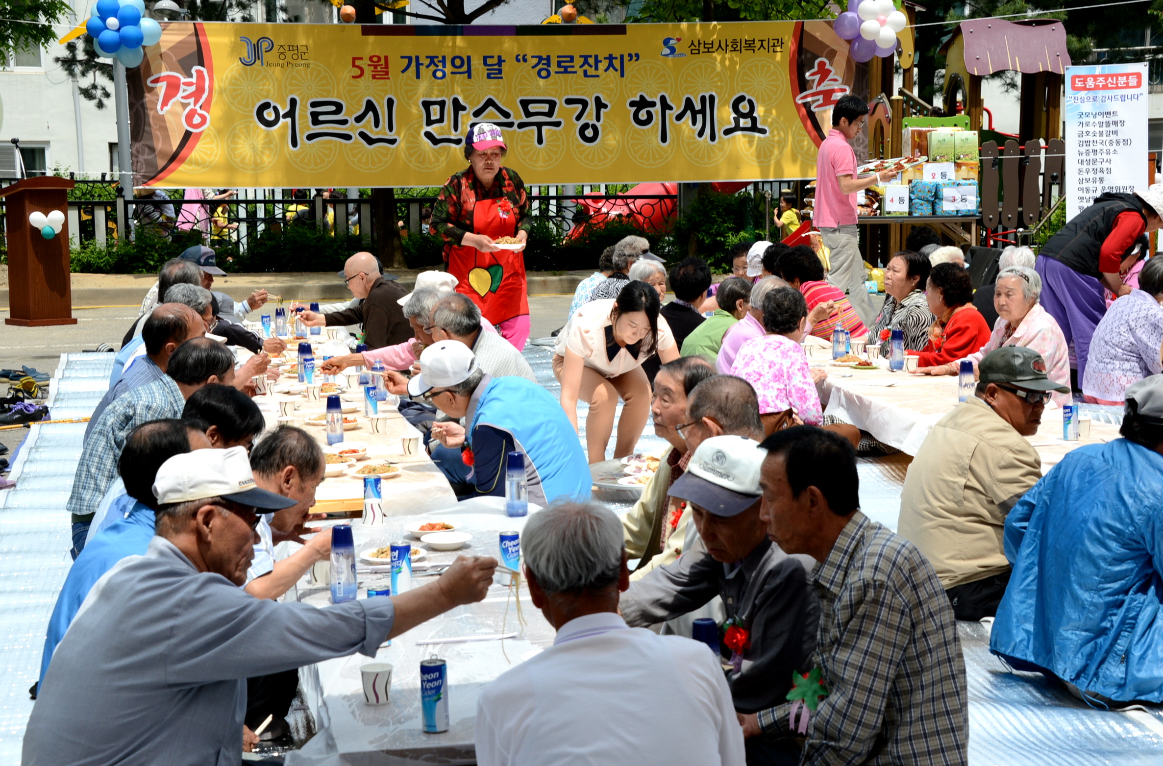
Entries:
{"label": "nearest white-covered table in the foreground, with blue drink cans", "polygon": [[[354,523],[357,551],[387,545],[395,539],[408,539],[414,546],[424,547],[405,532],[407,522],[416,518],[392,517],[376,527]],[[504,499],[495,497],[466,501],[421,518],[456,523],[461,531],[472,535],[472,539],[459,551],[427,551],[422,564],[450,563],[462,554],[497,557],[499,534],[502,530],[521,531],[526,521],[506,516]],[[369,586],[390,581],[388,574],[371,573],[368,566],[363,561],[357,564],[359,597],[364,597]],[[433,581],[433,578],[420,577],[422,571],[419,568],[415,574],[418,586]],[[301,751],[287,754],[287,766],[475,764],[473,723],[480,688],[554,640],[554,628],[533,607],[523,586],[520,597],[526,620],[523,628],[518,625],[511,589],[498,580],[484,601],[458,607],[397,636],[391,645],[379,649],[374,659],[352,654],[301,668],[300,679],[319,733]],[[323,586],[305,586],[299,588],[298,599],[323,607],[330,602],[330,593]],[[504,642],[495,638],[463,640],[512,632],[519,632],[519,637]],[[424,733],[422,730],[420,660],[430,657],[448,661],[450,725],[443,733]],[[364,702],[359,667],[373,661],[391,663],[393,666],[391,702],[386,706]]]}

